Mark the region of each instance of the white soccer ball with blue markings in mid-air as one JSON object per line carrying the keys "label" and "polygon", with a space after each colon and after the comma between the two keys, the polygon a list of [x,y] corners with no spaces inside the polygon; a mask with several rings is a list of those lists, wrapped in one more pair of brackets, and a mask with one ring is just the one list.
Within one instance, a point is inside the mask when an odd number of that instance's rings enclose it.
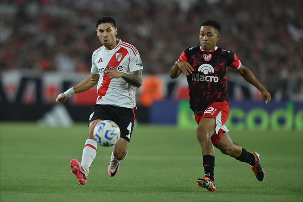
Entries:
{"label": "white soccer ball with blue markings in mid-air", "polygon": [[111,120],[100,121],[94,128],[95,141],[104,147],[115,145],[120,139],[120,128]]}

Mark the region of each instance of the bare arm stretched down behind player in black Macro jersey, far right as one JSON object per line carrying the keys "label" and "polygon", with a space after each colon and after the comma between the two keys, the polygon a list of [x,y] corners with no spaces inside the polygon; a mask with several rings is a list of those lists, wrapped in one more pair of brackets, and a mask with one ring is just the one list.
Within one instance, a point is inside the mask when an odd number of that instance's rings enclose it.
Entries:
{"label": "bare arm stretched down behind player in black Macro jersey, far right", "polygon": [[246,81],[253,84],[261,92],[261,96],[266,100],[266,104],[269,104],[271,102],[270,93],[263,87],[263,85],[258,81],[258,79],[255,78],[255,76],[247,67],[241,65],[241,67],[238,69],[238,72]]}

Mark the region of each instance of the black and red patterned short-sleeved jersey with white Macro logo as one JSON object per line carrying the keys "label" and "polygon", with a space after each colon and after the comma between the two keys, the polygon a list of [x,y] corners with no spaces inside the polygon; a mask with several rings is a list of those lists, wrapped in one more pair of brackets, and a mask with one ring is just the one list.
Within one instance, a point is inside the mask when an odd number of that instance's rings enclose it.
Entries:
{"label": "black and red patterned short-sleeved jersey with white Macro logo", "polygon": [[203,114],[213,102],[228,101],[226,71],[230,66],[238,69],[240,60],[232,52],[215,47],[210,51],[198,46],[186,49],[179,60],[187,61],[193,68],[187,75],[189,104],[195,114]]}

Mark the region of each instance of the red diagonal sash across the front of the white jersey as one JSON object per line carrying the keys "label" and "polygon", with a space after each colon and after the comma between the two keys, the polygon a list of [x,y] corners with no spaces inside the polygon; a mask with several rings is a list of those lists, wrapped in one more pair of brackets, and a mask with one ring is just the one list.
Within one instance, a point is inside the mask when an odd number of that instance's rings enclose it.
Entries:
{"label": "red diagonal sash across the front of the white jersey", "polygon": [[[117,61],[117,58],[116,58],[116,54],[119,53],[121,54],[122,53],[122,58]],[[126,48],[119,48],[118,51],[116,51],[112,58],[109,60],[108,64],[106,65],[107,66],[114,66],[114,67],[118,67],[120,65],[120,63],[123,61],[123,59],[125,58],[125,56],[128,54],[128,51]],[[98,89],[98,100],[97,102],[106,94],[107,90],[108,90],[108,87],[109,87],[109,84],[111,83],[112,79],[108,77],[108,75],[106,75],[106,73],[104,72],[103,74],[103,81],[102,81],[102,84],[101,84],[101,87]]]}

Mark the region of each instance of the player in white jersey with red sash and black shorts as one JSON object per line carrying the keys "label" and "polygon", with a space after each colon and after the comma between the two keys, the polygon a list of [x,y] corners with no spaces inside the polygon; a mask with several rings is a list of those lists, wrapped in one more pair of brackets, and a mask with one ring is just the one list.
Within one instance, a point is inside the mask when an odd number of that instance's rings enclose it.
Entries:
{"label": "player in white jersey with red sash and black shorts", "polygon": [[114,177],[120,161],[127,155],[135,122],[136,88],[142,85],[142,61],[138,50],[118,38],[115,19],[103,16],[96,23],[97,35],[102,46],[92,55],[91,74],[79,84],[58,95],[57,102],[65,102],[75,93],[87,91],[96,84],[98,98],[89,117],[89,133],[82,152],[81,163],[72,159],[71,170],[79,184],[87,183],[87,176],[97,154],[93,136],[95,126],[102,120],[115,121],[121,138],[113,147],[108,174]]}

